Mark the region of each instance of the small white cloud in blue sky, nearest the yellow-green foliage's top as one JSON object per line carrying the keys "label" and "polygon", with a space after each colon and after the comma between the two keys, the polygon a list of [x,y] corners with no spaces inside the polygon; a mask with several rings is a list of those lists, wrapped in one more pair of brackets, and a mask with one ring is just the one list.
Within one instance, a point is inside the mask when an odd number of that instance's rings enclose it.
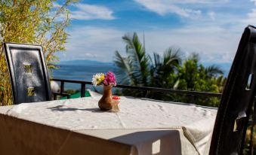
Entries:
{"label": "small white cloud in blue sky, nearest the yellow-green foliage's top", "polygon": [[76,20],[114,20],[113,11],[100,5],[76,4],[71,17]]}

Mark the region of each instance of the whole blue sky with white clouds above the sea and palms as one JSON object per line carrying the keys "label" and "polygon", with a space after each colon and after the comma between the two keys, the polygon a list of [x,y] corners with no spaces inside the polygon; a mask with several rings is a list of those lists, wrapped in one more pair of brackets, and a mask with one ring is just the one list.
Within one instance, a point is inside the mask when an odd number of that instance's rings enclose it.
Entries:
{"label": "whole blue sky with white clouds above the sea and palms", "polygon": [[84,0],[69,9],[60,61],[113,62],[116,50],[125,56],[122,36],[137,32],[150,55],[176,47],[204,63],[231,63],[245,27],[256,26],[256,0]]}

